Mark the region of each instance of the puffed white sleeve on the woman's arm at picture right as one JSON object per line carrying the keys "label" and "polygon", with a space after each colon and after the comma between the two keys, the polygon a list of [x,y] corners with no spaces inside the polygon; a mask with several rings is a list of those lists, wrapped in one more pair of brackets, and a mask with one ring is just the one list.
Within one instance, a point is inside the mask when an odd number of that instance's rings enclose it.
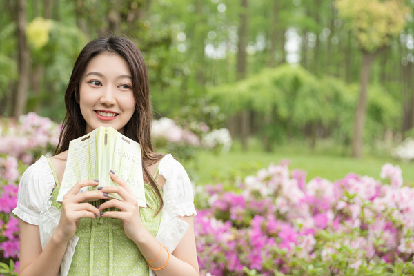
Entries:
{"label": "puffed white sleeve on the woman's arm at picture right", "polygon": [[166,211],[180,217],[197,215],[193,185],[181,163],[168,154],[159,162],[158,170],[159,174],[166,179],[163,187]]}

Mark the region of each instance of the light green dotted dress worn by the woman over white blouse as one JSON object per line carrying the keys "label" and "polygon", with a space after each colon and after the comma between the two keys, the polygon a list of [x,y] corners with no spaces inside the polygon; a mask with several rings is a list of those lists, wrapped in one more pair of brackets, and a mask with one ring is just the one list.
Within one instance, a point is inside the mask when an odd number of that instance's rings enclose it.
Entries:
{"label": "light green dotted dress worn by the woman over white blouse", "polygon": [[[52,206],[61,210],[57,202],[59,181],[52,163],[48,159],[55,178],[56,186],[51,194]],[[155,172],[157,176],[158,169]],[[157,197],[149,184],[144,184],[146,203],[149,207],[140,208],[141,221],[155,237],[161,221],[161,212],[154,217],[157,210]],[[160,189],[161,195],[162,190]],[[93,201],[98,206],[102,201]],[[115,209],[114,209],[115,210]],[[122,221],[111,217],[90,219],[83,217],[75,233],[79,241],[75,247],[68,275],[148,275],[149,268],[146,260],[139,252],[136,244],[126,237]]]}

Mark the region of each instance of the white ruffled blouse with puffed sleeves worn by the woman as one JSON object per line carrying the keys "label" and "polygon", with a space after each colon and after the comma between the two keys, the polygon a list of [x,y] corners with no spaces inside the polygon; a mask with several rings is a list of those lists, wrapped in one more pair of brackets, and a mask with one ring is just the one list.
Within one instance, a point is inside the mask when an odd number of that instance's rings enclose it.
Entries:
{"label": "white ruffled blouse with puffed sleeves worn by the woman", "polygon": [[[162,188],[164,207],[161,223],[155,238],[172,252],[188,228],[188,224],[178,217],[197,215],[193,186],[184,167],[170,154],[161,159],[158,171],[166,179],[166,183]],[[17,207],[13,210],[14,215],[21,220],[39,226],[42,248],[50,241],[60,218],[59,210],[50,205],[50,194],[54,187],[52,169],[46,157],[42,156],[23,173]],[[68,274],[78,239],[74,236],[68,242],[59,275]],[[152,270],[150,275],[154,275]]]}

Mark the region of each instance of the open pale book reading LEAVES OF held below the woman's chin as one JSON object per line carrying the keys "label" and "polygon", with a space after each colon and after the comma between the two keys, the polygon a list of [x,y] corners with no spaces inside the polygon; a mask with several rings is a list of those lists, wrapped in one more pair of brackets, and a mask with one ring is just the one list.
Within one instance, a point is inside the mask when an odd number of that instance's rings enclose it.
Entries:
{"label": "open pale book reading LEAVES OF held below the woman's chin", "polygon": [[[98,186],[84,187],[81,192],[104,186],[118,186],[110,178],[110,170],[128,184],[137,197],[138,205],[146,207],[141,146],[114,128],[103,126],[70,141],[57,201],[61,202],[63,195],[78,181],[99,179]],[[122,200],[117,193],[110,193],[108,198]]]}

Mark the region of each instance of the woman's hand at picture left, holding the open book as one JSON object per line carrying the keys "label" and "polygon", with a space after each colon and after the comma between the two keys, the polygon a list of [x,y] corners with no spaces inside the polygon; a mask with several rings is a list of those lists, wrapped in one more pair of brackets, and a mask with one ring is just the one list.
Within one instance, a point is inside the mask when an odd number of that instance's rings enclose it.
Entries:
{"label": "woman's hand at picture left, holding the open book", "polygon": [[93,219],[100,216],[101,211],[98,208],[83,201],[88,201],[88,199],[106,199],[108,195],[102,193],[100,190],[79,193],[81,188],[97,186],[98,183],[99,181],[96,180],[79,181],[63,196],[61,216],[55,230],[56,238],[59,241],[68,242],[75,235],[78,221],[81,217],[90,217]]}

